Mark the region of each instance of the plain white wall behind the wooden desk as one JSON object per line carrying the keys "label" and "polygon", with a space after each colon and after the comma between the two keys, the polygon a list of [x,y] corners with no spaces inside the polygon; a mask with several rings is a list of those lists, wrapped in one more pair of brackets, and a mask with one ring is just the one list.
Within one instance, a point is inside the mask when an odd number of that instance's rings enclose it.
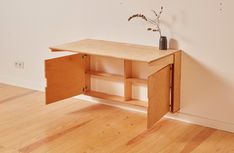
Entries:
{"label": "plain white wall behind the wooden desk", "polygon": [[[48,50],[55,44],[100,38],[158,45],[157,34],[127,18],[161,5],[164,34],[184,51],[182,109],[173,117],[234,132],[232,0],[0,0],[0,81],[43,89],[43,61],[57,55]],[[15,69],[16,60],[24,70]]]}

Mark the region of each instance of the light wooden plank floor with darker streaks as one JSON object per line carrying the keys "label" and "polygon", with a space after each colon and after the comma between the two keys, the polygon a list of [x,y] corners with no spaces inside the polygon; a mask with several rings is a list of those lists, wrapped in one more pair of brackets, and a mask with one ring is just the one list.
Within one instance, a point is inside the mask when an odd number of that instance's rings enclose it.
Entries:
{"label": "light wooden plank floor with darker streaks", "polygon": [[234,134],[0,84],[0,153],[234,153]]}

